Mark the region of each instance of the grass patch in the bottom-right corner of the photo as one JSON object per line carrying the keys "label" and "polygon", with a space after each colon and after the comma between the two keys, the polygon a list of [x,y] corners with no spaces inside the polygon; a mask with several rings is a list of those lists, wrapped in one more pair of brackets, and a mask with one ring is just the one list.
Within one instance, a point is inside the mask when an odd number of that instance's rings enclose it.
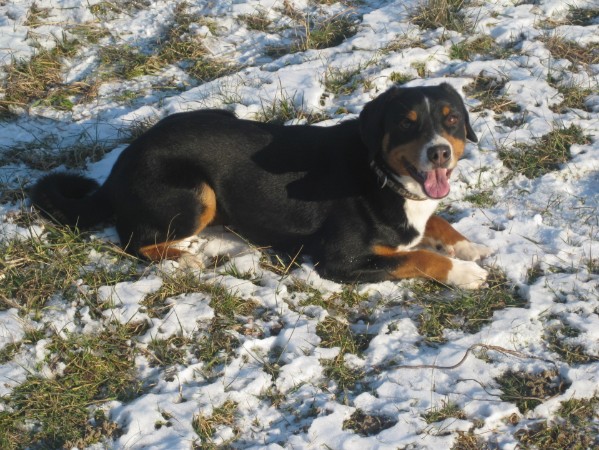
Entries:
{"label": "grass patch in the bottom-right corner of the photo", "polygon": [[599,397],[562,402],[557,417],[521,428],[515,436],[523,448],[584,450],[599,440]]}

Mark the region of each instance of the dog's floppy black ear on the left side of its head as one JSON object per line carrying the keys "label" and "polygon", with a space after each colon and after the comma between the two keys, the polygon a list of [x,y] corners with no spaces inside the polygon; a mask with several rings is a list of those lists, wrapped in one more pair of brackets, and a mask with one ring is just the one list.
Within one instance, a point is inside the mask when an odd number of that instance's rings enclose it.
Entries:
{"label": "dog's floppy black ear on the left side of its head", "polygon": [[368,147],[372,160],[382,150],[383,136],[385,134],[385,108],[387,102],[399,94],[400,88],[392,87],[383,92],[374,100],[364,105],[360,113],[360,135],[362,142]]}

